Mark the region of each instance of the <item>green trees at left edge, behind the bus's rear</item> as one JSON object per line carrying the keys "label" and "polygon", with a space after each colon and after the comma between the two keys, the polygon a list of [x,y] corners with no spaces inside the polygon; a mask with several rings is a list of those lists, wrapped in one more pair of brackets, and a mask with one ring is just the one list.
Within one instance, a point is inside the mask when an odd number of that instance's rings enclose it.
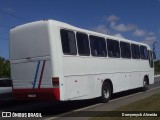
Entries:
{"label": "green trees at left edge, behind the bus's rear", "polygon": [[0,57],[0,78],[2,77],[10,77],[10,62]]}

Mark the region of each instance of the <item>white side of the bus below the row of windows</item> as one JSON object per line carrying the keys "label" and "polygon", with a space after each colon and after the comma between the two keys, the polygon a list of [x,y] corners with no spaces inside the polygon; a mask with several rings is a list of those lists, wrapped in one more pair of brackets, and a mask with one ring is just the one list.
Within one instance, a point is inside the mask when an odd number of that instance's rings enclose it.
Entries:
{"label": "white side of the bus below the row of windows", "polygon": [[[72,88],[73,90],[80,89],[81,86],[83,86],[83,89],[92,91],[88,92],[88,96],[91,96],[91,98],[101,96],[102,81],[106,79],[110,79],[112,81],[113,93],[116,93],[142,87],[144,76],[148,75],[150,72],[148,71],[148,60],[128,60],[81,56],[63,56],[62,59],[64,76],[75,76],[71,82],[68,83],[69,79],[67,80],[66,84],[68,85],[66,92],[69,86],[74,83],[74,80],[82,80],[83,78],[81,79],[81,77],[84,76],[84,78],[86,77],[85,79],[87,81],[87,76],[90,76],[88,77],[88,81],[94,81],[92,88],[84,88],[85,86],[83,84],[79,84],[79,86],[77,84],[73,84]],[[67,94],[70,94],[70,92]],[[71,96],[78,97],[76,92]],[[69,98],[71,98],[71,96]]]}

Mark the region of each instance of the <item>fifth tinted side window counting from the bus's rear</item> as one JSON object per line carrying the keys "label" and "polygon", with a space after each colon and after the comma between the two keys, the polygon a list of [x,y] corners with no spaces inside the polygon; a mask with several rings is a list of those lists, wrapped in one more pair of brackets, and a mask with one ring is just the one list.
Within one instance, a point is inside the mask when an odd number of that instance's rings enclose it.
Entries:
{"label": "fifth tinted side window counting from the bus's rear", "polygon": [[131,58],[130,44],[125,42],[120,42],[120,47],[121,47],[121,57]]}

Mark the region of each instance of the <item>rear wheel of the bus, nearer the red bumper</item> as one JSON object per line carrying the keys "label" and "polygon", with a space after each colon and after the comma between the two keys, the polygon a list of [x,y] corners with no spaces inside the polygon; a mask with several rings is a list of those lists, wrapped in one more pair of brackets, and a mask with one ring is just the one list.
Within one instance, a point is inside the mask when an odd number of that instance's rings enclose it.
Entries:
{"label": "rear wheel of the bus, nearer the red bumper", "polygon": [[101,102],[107,103],[111,98],[111,87],[108,82],[104,82],[102,85]]}

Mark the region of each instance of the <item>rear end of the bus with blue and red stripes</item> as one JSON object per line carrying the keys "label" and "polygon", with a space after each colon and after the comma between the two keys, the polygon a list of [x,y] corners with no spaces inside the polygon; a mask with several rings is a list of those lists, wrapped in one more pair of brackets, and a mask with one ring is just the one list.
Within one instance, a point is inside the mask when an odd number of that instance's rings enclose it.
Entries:
{"label": "rear end of the bus with blue and red stripes", "polygon": [[16,99],[60,99],[53,86],[47,21],[18,26],[10,31],[11,77]]}

